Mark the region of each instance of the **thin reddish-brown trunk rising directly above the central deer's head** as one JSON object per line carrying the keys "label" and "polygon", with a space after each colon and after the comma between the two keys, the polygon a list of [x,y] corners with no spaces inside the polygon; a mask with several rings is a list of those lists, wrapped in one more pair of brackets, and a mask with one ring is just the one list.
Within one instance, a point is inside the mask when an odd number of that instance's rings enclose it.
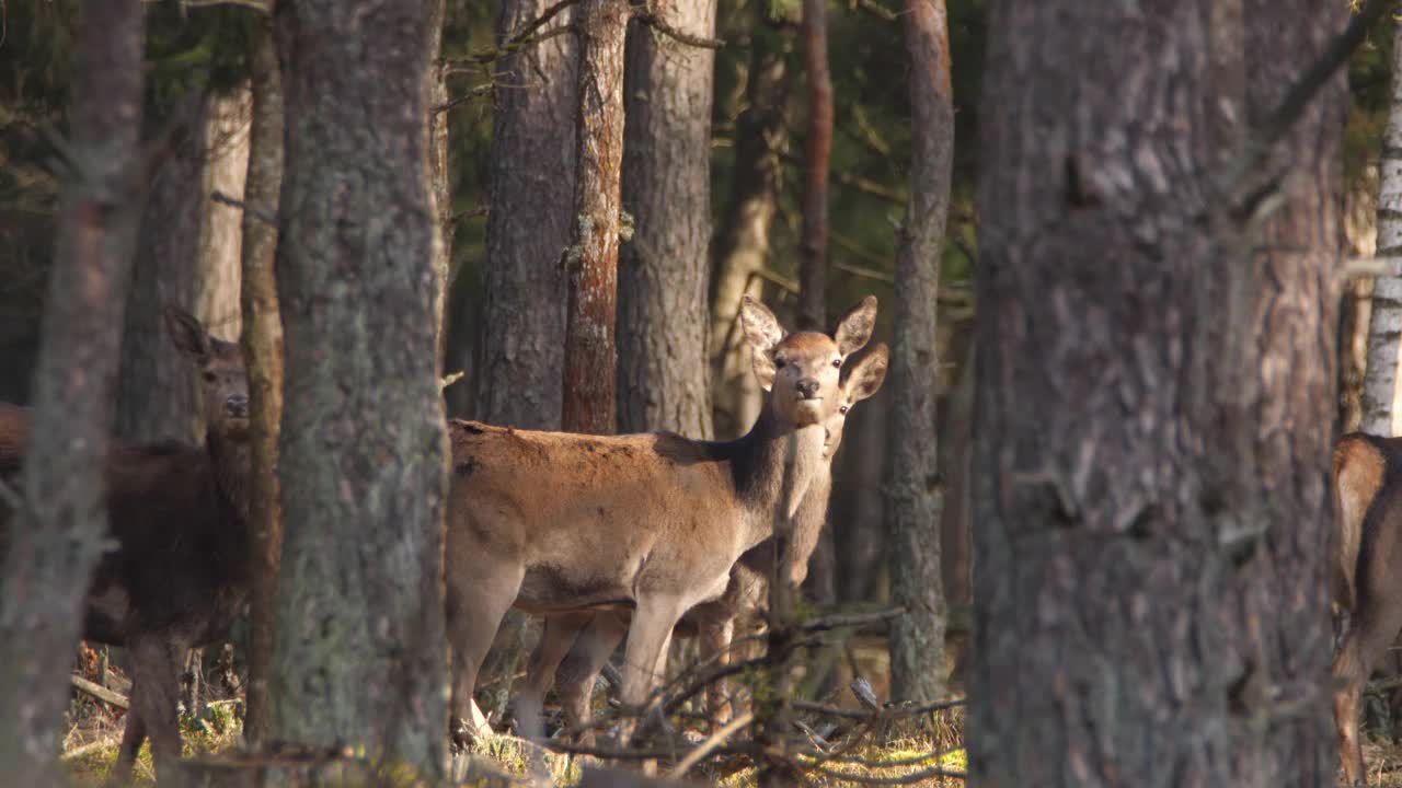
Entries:
{"label": "thin reddish-brown trunk rising directly above the central deer's head", "polygon": [[827,327],[827,175],[833,160],[833,77],[827,66],[827,0],[803,0],[808,129],[803,139],[803,241],[798,327]]}

